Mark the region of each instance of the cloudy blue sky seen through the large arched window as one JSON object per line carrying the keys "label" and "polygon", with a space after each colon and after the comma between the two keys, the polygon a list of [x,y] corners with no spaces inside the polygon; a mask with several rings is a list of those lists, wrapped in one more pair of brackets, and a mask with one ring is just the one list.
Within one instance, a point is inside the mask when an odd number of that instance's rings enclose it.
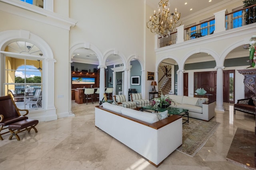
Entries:
{"label": "cloudy blue sky seen through the large arched window", "polygon": [[[17,70],[15,71],[15,76],[25,78],[25,66],[24,65],[17,68]],[[35,66],[27,65],[26,66],[26,78],[30,78],[30,77],[34,77],[34,76],[41,77],[40,70],[38,70]]]}

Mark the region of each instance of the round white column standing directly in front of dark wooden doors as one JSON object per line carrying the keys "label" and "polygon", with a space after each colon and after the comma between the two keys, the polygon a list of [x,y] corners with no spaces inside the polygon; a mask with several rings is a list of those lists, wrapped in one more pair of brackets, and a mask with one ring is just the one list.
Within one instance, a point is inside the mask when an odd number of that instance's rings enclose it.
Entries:
{"label": "round white column standing directly in front of dark wooden doors", "polygon": [[216,86],[216,110],[224,111],[223,106],[223,69],[224,66],[216,66],[217,70],[217,86]]}

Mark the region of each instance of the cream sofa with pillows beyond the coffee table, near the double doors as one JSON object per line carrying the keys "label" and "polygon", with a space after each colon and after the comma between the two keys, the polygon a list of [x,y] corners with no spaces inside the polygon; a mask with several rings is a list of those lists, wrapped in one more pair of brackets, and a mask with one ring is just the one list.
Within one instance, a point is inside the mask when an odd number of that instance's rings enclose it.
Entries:
{"label": "cream sofa with pillows beyond the coffee table, near the double doors", "polygon": [[[188,109],[189,117],[206,121],[209,121],[212,119],[212,117],[214,117],[215,102],[209,102],[208,98],[194,98],[188,96],[177,96],[173,94],[166,94],[165,96],[169,96],[175,101],[175,104],[172,103],[169,107]],[[206,102],[202,103],[202,100],[206,100]]]}

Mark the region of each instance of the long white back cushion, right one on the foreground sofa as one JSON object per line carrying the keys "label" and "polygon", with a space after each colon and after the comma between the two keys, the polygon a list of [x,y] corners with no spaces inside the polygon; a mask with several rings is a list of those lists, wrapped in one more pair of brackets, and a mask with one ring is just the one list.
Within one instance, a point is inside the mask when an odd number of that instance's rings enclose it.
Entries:
{"label": "long white back cushion, right one on the foreground sofa", "polygon": [[129,116],[134,119],[138,119],[147,123],[154,123],[158,121],[158,117],[153,113],[145,113],[142,111],[128,109],[128,108],[123,108],[121,111],[123,115]]}

